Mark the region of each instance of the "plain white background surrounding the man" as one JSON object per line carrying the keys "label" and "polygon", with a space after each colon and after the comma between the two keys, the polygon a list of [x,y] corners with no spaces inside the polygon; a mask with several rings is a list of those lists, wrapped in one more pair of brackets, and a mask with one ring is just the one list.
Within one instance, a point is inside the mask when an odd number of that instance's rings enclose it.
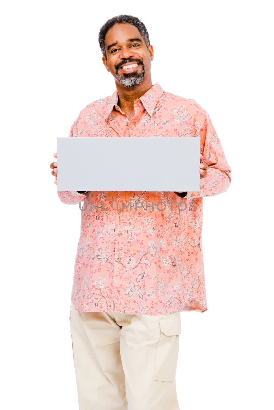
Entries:
{"label": "plain white background surrounding the man", "polygon": [[181,313],[180,408],[273,408],[272,13],[266,1],[122,3],[1,10],[0,406],[78,408],[69,309],[80,210],[57,197],[50,163],[80,110],[115,91],[98,33],[131,14],[154,46],[152,84],[206,109],[232,169],[229,190],[204,198],[208,311]]}

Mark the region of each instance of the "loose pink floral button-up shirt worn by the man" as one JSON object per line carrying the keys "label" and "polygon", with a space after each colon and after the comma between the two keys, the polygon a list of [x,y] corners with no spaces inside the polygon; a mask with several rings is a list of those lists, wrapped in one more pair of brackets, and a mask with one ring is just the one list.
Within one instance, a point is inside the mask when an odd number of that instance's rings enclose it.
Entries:
{"label": "loose pink floral button-up shirt worn by the man", "polygon": [[[201,190],[188,192],[186,198],[174,192],[57,191],[65,204],[84,201],[71,300],[78,312],[205,312],[202,197],[225,192],[231,182],[220,139],[208,113],[195,100],[166,92],[157,82],[134,101],[131,120],[117,102],[115,90],[88,104],[72,124],[69,137],[200,135],[208,175],[201,179]],[[104,153],[96,155],[101,155],[104,166]],[[132,166],[145,164],[140,160]],[[129,203],[131,209],[125,207]]]}

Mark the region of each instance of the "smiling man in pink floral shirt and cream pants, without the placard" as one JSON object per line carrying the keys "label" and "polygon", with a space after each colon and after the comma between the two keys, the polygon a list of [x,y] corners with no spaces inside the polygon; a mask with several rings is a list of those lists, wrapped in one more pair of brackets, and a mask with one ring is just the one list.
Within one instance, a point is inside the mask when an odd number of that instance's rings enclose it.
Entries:
{"label": "smiling man in pink floral shirt and cream pants, without the placard", "polygon": [[[99,44],[116,90],[87,105],[69,137],[200,135],[201,188],[57,192],[65,204],[84,201],[70,306],[79,409],[177,410],[180,312],[207,310],[202,197],[225,192],[231,168],[208,113],[152,85],[153,47],[138,18],[110,19]],[[57,162],[50,166],[57,176]],[[141,159],[132,166],[156,172]]]}

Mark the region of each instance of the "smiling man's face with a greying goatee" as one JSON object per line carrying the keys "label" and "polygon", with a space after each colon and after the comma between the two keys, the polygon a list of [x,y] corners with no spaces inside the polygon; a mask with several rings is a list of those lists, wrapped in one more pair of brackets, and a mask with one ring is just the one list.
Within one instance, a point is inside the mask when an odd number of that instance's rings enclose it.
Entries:
{"label": "smiling man's face with a greying goatee", "polygon": [[106,33],[105,50],[107,58],[102,60],[107,71],[124,87],[136,87],[150,73],[153,47],[149,45],[147,49],[134,25],[115,23]]}

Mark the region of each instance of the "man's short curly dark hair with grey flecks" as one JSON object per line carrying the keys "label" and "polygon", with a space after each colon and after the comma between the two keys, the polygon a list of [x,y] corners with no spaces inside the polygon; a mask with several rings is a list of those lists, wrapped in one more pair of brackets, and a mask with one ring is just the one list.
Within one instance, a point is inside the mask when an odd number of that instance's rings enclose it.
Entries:
{"label": "man's short curly dark hair with grey flecks", "polygon": [[106,50],[105,50],[105,36],[106,33],[109,31],[109,29],[115,24],[115,23],[129,23],[134,25],[135,27],[138,28],[141,36],[145,40],[145,44],[148,48],[150,41],[149,41],[149,35],[147,32],[147,28],[145,27],[144,23],[139,20],[138,17],[131,16],[129,14],[120,14],[120,16],[115,16],[113,18],[110,18],[104,25],[100,28],[99,32],[99,46],[101,48],[101,51],[106,57]]}

